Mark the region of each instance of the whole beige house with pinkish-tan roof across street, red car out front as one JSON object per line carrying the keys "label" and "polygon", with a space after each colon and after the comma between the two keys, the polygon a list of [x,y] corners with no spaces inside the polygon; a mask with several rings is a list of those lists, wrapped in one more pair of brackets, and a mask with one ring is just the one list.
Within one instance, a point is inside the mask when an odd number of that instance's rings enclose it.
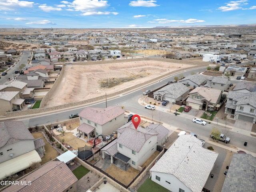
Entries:
{"label": "whole beige house with pinkish-tan roof across street, red car out front", "polygon": [[196,87],[189,93],[187,105],[197,110],[218,110],[221,96],[222,90],[203,86]]}

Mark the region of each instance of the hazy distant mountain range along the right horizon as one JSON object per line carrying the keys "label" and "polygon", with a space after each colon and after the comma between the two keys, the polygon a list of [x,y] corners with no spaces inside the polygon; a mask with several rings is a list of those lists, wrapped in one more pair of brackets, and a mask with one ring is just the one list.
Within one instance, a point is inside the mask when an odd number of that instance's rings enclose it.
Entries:
{"label": "hazy distant mountain range along the right horizon", "polygon": [[154,28],[228,28],[228,27],[256,27],[256,24],[242,24],[242,25],[194,25],[194,26],[165,26]]}

